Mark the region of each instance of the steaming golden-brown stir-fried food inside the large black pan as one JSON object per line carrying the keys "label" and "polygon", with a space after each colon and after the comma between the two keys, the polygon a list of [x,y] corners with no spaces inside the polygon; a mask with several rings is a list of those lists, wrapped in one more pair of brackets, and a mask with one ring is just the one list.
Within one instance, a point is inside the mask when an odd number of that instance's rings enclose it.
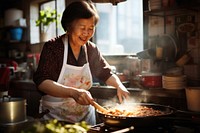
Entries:
{"label": "steaming golden-brown stir-fried food inside the large black pan", "polygon": [[165,114],[165,112],[153,109],[147,106],[135,106],[128,109],[123,108],[110,108],[108,113],[103,112],[106,115],[112,116],[126,116],[126,117],[146,117],[146,116],[159,116]]}

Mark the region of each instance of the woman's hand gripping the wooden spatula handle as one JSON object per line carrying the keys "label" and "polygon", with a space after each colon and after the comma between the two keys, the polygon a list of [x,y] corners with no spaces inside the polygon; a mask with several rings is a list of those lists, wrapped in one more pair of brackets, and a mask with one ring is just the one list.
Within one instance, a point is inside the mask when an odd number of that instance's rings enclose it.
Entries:
{"label": "woman's hand gripping the wooden spatula handle", "polygon": [[94,101],[90,92],[84,89],[76,89],[72,97],[77,103],[81,105],[89,105]]}

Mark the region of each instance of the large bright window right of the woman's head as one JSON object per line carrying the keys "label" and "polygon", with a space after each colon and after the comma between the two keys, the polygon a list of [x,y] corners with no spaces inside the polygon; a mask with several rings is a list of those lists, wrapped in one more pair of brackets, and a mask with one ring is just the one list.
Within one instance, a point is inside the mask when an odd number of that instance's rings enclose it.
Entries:
{"label": "large bright window right of the woman's head", "polygon": [[97,3],[100,21],[95,43],[104,55],[133,54],[143,50],[143,3],[127,0],[113,6]]}

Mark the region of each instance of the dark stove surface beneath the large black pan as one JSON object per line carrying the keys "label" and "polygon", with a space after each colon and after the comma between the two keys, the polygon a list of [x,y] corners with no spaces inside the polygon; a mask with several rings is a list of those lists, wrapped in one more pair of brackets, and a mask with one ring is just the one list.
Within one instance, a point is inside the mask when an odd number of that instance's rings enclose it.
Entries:
{"label": "dark stove surface beneath the large black pan", "polygon": [[162,120],[161,123],[153,127],[134,127],[132,125],[118,128],[107,126],[102,122],[94,125],[88,133],[200,133],[200,113],[177,113],[175,117],[165,119],[166,122]]}

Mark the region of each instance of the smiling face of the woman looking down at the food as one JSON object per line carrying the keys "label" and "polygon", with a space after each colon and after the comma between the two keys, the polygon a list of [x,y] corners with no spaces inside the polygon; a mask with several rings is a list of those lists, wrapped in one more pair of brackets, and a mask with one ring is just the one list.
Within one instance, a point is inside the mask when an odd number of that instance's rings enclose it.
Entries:
{"label": "smiling face of the woman looking down at the food", "polygon": [[69,34],[70,45],[82,46],[94,35],[95,19],[78,19],[74,22],[72,31]]}

